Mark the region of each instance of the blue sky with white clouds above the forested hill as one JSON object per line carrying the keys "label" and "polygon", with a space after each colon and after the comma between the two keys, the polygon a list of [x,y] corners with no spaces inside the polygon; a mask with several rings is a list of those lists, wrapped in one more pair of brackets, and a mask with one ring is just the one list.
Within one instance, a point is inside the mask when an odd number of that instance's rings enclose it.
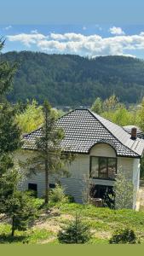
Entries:
{"label": "blue sky with white clouds above the forested hill", "polygon": [[143,0],[5,0],[3,52],[130,55],[144,59]]}

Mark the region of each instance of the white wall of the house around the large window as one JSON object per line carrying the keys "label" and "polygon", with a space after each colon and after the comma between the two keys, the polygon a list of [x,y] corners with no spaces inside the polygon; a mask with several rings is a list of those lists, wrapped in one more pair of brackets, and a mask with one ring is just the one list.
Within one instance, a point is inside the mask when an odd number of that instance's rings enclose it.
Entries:
{"label": "white wall of the house around the large window", "polygon": [[[77,202],[83,202],[83,195],[86,189],[86,181],[101,185],[113,185],[113,181],[102,179],[91,179],[89,181],[89,160],[90,156],[116,157],[115,150],[107,143],[98,143],[91,148],[89,154],[77,154],[71,165],[67,165],[70,177],[61,177],[60,182],[66,189],[66,195],[72,195]],[[26,156],[22,156],[22,158]],[[20,158],[20,157],[18,157]],[[136,190],[139,183],[139,160],[133,158],[118,157],[118,170],[123,170],[127,177],[133,180]],[[37,170],[37,175],[26,178],[22,189],[28,189],[28,183],[37,183],[37,195],[43,196],[44,192],[44,172]],[[51,177],[49,183],[55,183]]]}

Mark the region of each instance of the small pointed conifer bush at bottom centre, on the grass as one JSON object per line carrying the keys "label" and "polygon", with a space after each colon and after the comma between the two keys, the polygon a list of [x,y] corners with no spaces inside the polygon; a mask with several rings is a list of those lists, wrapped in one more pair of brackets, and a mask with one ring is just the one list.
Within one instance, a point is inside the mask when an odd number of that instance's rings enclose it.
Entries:
{"label": "small pointed conifer bush at bottom centre, on the grass", "polygon": [[86,243],[90,238],[89,225],[84,224],[77,214],[76,218],[64,230],[60,230],[58,233],[60,243]]}

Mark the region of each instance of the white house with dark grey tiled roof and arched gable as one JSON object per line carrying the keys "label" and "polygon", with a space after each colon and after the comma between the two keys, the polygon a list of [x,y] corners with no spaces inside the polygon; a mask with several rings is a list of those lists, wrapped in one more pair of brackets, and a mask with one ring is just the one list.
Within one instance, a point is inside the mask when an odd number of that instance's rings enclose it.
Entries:
{"label": "white house with dark grey tiled roof and arched gable", "polygon": [[[106,189],[112,189],[115,175],[122,170],[134,184],[135,208],[136,194],[139,190],[140,159],[144,150],[144,140],[136,135],[132,127],[131,134],[123,127],[113,124],[89,109],[75,109],[57,120],[56,125],[65,131],[61,142],[64,152],[76,154],[75,160],[68,165],[70,177],[61,177],[60,183],[67,195],[74,196],[82,203],[85,180],[93,187],[93,195],[101,198]],[[41,135],[41,128],[24,136],[23,148],[36,149],[36,138]],[[86,178],[85,178],[86,177]],[[49,186],[55,187],[55,178],[51,177]],[[37,170],[37,175],[27,178],[22,189],[37,189],[37,195],[43,196],[44,173]]]}

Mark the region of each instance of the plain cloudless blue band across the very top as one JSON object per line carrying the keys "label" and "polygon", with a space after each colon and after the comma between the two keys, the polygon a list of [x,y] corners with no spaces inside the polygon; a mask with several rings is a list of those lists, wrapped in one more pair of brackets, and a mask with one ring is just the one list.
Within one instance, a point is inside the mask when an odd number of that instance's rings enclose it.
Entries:
{"label": "plain cloudless blue band across the very top", "polygon": [[141,24],[143,0],[4,0],[0,24]]}

